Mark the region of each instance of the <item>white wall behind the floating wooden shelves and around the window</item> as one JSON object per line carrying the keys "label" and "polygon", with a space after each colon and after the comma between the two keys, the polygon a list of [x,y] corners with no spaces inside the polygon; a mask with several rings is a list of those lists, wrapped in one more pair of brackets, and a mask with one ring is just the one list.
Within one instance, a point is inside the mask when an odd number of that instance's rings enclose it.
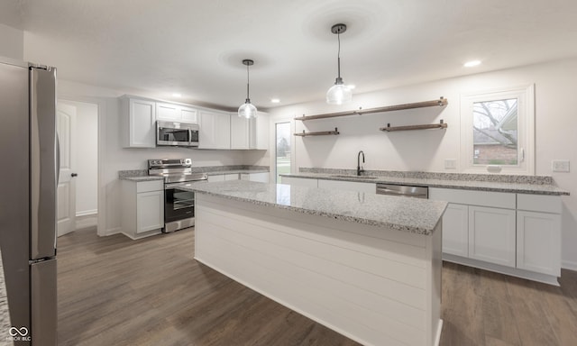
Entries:
{"label": "white wall behind the floating wooden shelves and around the window", "polygon": [[[458,172],[444,169],[444,159],[460,159],[460,96],[462,93],[497,87],[535,84],[536,175],[553,176],[571,196],[563,197],[563,267],[577,269],[577,111],[572,105],[577,59],[566,59],[522,68],[455,77],[409,87],[398,87],[353,95],[353,105],[326,105],[324,100],[270,110],[272,119],[427,101],[444,96],[449,105],[383,114],[365,114],[310,122],[296,121],[297,132],[328,131],[338,127],[338,136],[296,138],[298,167],[356,168],[357,152],[366,156],[364,168]],[[380,132],[394,125],[448,123],[446,131]],[[572,161],[570,173],[554,173],[552,159]]]}

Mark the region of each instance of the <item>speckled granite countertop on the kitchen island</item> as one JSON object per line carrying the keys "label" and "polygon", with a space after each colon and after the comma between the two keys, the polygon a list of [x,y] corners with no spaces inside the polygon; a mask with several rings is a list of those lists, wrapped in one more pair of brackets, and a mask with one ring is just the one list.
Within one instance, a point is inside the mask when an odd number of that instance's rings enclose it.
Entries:
{"label": "speckled granite countertop on the kitchen island", "polygon": [[254,205],[289,209],[304,214],[423,235],[429,235],[434,231],[447,205],[446,202],[426,199],[245,180],[198,183],[183,189]]}

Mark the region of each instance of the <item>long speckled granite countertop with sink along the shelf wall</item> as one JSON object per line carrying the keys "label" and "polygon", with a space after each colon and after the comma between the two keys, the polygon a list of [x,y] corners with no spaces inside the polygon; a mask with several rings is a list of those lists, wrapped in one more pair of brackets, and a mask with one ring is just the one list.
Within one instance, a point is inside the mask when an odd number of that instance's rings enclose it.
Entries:
{"label": "long speckled granite countertop with sink along the shelf wall", "polygon": [[[297,174],[281,174],[281,177],[289,178],[315,178],[328,180],[357,181],[364,183],[384,183],[395,185],[412,185],[418,187],[444,187],[466,190],[510,192],[518,194],[534,195],[569,195],[569,192],[551,184],[530,184],[519,182],[498,182],[498,181],[478,181],[459,179],[439,179],[439,178],[404,178],[386,176],[367,176],[366,178],[338,177],[339,174],[330,173],[309,173],[301,172]],[[472,176],[474,177],[474,176]]]}

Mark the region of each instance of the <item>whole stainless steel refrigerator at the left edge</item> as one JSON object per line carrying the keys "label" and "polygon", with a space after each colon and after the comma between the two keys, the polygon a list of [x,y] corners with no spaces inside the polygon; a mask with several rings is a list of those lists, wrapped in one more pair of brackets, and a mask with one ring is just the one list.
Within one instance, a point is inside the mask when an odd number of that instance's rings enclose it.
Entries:
{"label": "whole stainless steel refrigerator at the left edge", "polygon": [[0,59],[0,114],[0,249],[15,328],[0,339],[56,345],[56,68]]}

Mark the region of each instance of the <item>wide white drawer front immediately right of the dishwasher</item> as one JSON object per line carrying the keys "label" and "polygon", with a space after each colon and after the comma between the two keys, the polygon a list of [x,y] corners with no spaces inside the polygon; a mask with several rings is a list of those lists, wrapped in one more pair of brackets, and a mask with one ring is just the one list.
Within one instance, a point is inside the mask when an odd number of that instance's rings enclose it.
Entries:
{"label": "wide white drawer front immediately right of the dishwasher", "polygon": [[457,190],[429,187],[429,199],[459,205],[481,205],[495,208],[515,209],[516,195],[507,192]]}

